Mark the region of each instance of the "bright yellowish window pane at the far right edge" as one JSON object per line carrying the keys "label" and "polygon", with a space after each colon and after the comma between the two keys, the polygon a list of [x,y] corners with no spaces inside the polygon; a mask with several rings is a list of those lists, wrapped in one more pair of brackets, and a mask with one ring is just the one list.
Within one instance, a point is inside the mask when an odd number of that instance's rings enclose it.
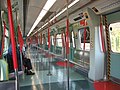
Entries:
{"label": "bright yellowish window pane at the far right edge", "polygon": [[111,49],[113,52],[120,53],[120,22],[110,24]]}

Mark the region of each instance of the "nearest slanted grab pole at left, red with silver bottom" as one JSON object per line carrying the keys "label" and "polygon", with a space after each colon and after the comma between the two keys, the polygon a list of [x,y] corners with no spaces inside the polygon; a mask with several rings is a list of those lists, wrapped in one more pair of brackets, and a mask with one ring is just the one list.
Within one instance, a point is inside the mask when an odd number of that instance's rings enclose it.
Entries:
{"label": "nearest slanted grab pole at left, red with silver bottom", "polygon": [[13,18],[12,18],[12,8],[11,8],[11,1],[7,0],[8,6],[8,19],[10,24],[10,38],[11,38],[11,45],[12,45],[12,57],[13,57],[13,65],[15,70],[15,90],[19,90],[19,81],[18,81],[18,64],[17,64],[17,55],[16,55],[16,44],[15,44],[15,37],[14,37],[14,26],[13,26]]}

